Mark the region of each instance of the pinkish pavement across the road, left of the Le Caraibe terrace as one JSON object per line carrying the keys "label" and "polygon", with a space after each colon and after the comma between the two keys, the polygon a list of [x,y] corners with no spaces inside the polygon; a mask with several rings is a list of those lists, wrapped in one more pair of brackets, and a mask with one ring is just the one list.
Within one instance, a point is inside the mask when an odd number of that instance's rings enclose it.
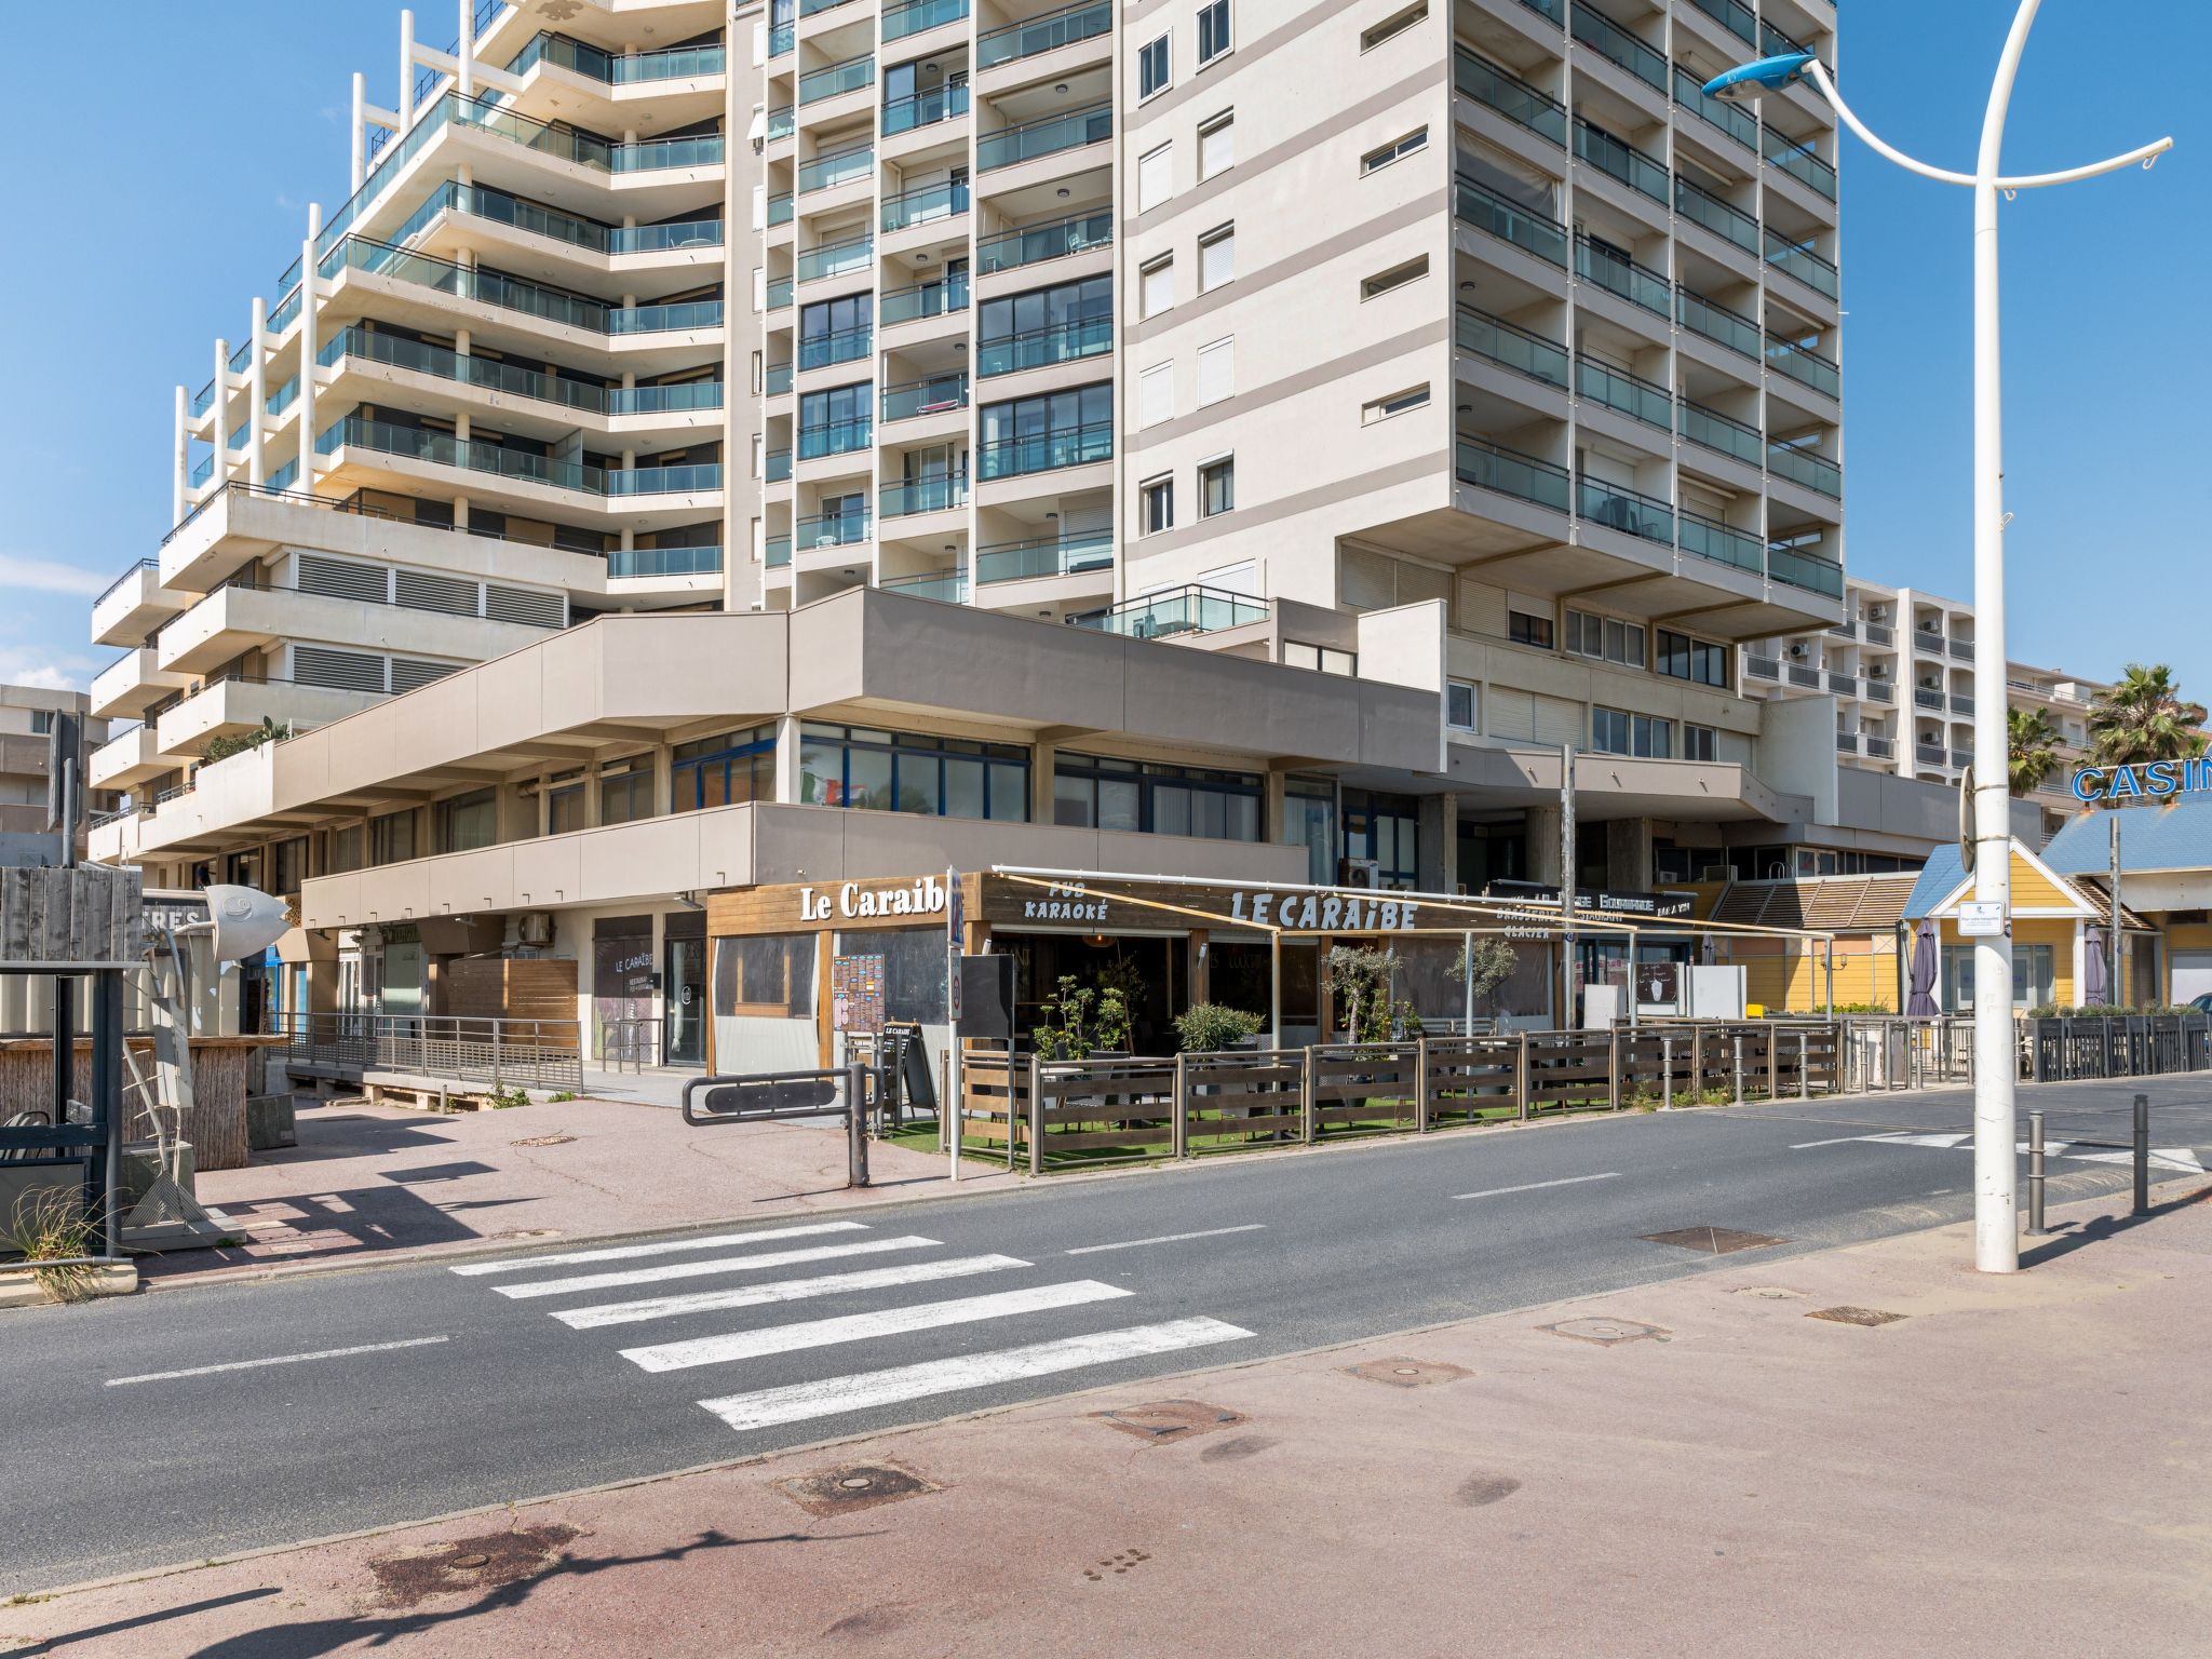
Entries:
{"label": "pinkish pavement across the road, left of the Le Caraibe terrace", "polygon": [[[845,1186],[843,1124],[690,1128],[644,1102],[564,1099],[416,1113],[361,1099],[299,1104],[299,1146],[199,1177],[237,1248],[144,1256],[150,1283],[261,1274],[372,1254],[599,1239],[699,1221],[880,1203],[949,1190],[945,1159],[872,1141]],[[962,1190],[1006,1186],[964,1159]]]}

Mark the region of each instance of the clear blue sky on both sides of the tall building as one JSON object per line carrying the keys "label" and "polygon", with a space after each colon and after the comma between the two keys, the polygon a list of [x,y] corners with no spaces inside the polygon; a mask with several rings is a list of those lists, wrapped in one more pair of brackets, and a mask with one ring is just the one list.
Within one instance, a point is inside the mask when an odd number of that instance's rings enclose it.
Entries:
{"label": "clear blue sky on both sides of the tall building", "polygon": [[[1256,4],[1259,0],[1248,0]],[[46,142],[0,170],[13,458],[0,513],[0,679],[82,686],[91,597],[168,529],[173,387],[276,299],[305,204],[345,199],[349,75],[392,102],[398,7],[128,0],[97,106],[13,88]],[[1845,0],[1843,84],[1891,144],[1973,161],[2013,0]],[[451,33],[449,7],[418,7]],[[2044,170],[2172,133],[2152,173],[2028,192],[2004,212],[2011,655],[2090,677],[2170,661],[2212,697],[2194,593],[2212,398],[2212,7],[2046,0],[2006,166]],[[221,159],[215,159],[221,157]],[[1847,557],[1880,582],[1971,591],[1969,192],[1843,153]]]}

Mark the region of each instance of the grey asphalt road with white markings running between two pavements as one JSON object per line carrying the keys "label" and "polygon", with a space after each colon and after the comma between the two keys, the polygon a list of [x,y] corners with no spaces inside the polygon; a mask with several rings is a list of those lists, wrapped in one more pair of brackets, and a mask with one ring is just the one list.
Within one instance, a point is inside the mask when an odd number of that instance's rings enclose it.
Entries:
{"label": "grey asphalt road with white markings running between two pavements", "polygon": [[[2212,1086],[2148,1091],[2161,1177],[2212,1166]],[[2075,1141],[2053,1203],[2128,1183],[2130,1093],[2022,1091]],[[1624,1115],[0,1314],[0,1595],[1940,1225],[1966,1128],[1962,1093]],[[1701,1225],[1781,1243],[1646,1239]]]}

